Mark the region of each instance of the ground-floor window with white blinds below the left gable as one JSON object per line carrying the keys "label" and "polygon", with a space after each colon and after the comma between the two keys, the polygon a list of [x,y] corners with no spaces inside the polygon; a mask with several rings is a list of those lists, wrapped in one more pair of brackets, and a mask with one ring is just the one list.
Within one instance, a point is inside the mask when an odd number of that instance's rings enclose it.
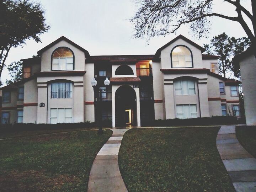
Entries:
{"label": "ground-floor window with white blinds below the left gable", "polygon": [[72,123],[72,108],[51,108],[50,123]]}

